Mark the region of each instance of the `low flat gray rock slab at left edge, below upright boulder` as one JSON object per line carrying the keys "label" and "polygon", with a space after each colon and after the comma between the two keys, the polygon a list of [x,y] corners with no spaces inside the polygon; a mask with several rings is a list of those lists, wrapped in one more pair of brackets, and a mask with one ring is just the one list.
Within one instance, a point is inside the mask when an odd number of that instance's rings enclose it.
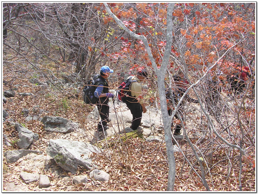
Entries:
{"label": "low flat gray rock slab at left edge, below upright boulder", "polygon": [[7,163],[13,163],[29,153],[42,154],[43,152],[36,150],[14,150],[5,152],[4,156],[6,158]]}

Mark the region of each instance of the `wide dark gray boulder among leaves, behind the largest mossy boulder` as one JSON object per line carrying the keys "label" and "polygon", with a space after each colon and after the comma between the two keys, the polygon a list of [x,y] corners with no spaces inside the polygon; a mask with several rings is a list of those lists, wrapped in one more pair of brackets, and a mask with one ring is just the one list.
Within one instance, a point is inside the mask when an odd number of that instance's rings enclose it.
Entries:
{"label": "wide dark gray boulder among leaves, behind the largest mossy boulder", "polygon": [[58,116],[44,116],[41,122],[46,131],[66,134],[79,129],[78,123]]}

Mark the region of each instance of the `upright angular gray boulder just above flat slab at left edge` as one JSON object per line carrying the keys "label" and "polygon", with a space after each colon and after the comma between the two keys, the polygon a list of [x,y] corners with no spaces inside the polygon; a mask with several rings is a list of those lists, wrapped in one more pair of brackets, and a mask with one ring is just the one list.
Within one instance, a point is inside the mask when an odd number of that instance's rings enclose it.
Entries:
{"label": "upright angular gray boulder just above flat slab at left edge", "polygon": [[19,123],[15,123],[15,129],[19,132],[17,145],[20,149],[27,149],[30,144],[38,140],[38,134],[33,133]]}

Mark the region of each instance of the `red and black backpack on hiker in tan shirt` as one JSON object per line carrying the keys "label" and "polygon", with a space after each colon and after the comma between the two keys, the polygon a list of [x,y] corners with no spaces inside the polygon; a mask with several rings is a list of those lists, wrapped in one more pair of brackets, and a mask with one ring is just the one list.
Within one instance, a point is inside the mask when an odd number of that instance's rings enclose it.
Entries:
{"label": "red and black backpack on hiker in tan shirt", "polygon": [[137,80],[132,80],[133,76],[130,76],[126,81],[122,82],[116,90],[116,97],[119,102],[125,102],[126,96],[131,96],[131,91],[126,91],[130,89],[132,82],[137,82]]}

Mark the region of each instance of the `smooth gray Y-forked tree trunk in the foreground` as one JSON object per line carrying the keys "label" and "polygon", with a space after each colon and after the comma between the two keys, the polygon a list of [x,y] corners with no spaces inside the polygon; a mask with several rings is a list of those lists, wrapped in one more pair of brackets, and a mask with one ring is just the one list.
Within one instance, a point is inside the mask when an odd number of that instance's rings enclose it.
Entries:
{"label": "smooth gray Y-forked tree trunk in the foreground", "polygon": [[175,6],[175,3],[169,3],[169,6],[167,8],[167,44],[165,48],[165,54],[162,60],[161,68],[157,68],[157,64],[155,63],[155,60],[153,58],[153,55],[151,53],[150,47],[148,45],[148,41],[146,37],[142,35],[137,35],[130,31],[124,23],[120,19],[118,19],[109,9],[107,3],[104,3],[105,8],[107,10],[107,13],[109,13],[113,19],[122,27],[127,33],[129,33],[132,37],[140,39],[143,41],[145,48],[147,50],[148,56],[150,58],[150,61],[152,63],[153,69],[157,75],[158,78],[158,88],[159,88],[159,97],[160,97],[160,105],[161,105],[161,114],[164,124],[164,130],[165,130],[165,142],[166,142],[166,148],[167,148],[167,157],[169,162],[169,173],[168,173],[168,183],[167,183],[167,191],[173,191],[174,185],[175,185],[175,157],[174,157],[174,151],[173,151],[173,144],[172,144],[172,136],[171,136],[171,120],[172,117],[169,117],[169,114],[167,112],[167,100],[165,95],[165,74],[167,71],[167,66],[169,62],[169,56],[171,54],[171,47],[172,47],[172,12]]}

